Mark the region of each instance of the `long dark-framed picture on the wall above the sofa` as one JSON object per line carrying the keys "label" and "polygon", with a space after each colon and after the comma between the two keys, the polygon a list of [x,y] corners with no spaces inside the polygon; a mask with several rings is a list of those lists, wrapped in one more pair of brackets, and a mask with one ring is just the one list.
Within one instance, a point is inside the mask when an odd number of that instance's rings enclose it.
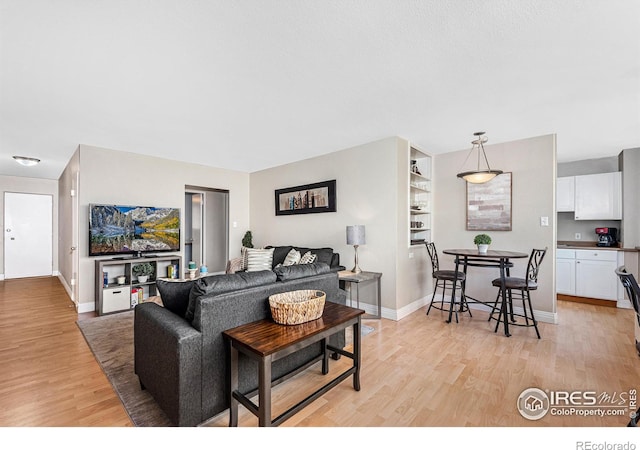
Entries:
{"label": "long dark-framed picture on the wall above the sofa", "polygon": [[336,180],[275,191],[276,216],[336,212]]}

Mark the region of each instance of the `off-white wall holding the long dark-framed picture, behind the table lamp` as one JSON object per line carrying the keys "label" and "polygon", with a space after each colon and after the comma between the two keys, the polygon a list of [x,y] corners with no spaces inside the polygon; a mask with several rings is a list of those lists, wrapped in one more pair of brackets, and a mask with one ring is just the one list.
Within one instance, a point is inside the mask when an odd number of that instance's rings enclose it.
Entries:
{"label": "off-white wall holding the long dark-framed picture, behind the table lamp", "polygon": [[[383,316],[397,318],[398,309],[425,295],[422,291],[415,292],[415,286],[398,286],[400,234],[402,257],[408,260],[409,253],[406,187],[401,187],[399,194],[401,160],[404,161],[401,171],[408,174],[408,143],[391,137],[252,173],[254,246],[332,247],[340,254],[342,265],[351,269],[354,250],[346,244],[346,226],[365,225],[367,243],[358,249],[359,265],[362,270],[382,273]],[[337,212],[275,215],[276,189],[332,179],[336,180]],[[404,224],[402,232],[399,223]],[[422,288],[420,283],[416,285],[417,289]]]}

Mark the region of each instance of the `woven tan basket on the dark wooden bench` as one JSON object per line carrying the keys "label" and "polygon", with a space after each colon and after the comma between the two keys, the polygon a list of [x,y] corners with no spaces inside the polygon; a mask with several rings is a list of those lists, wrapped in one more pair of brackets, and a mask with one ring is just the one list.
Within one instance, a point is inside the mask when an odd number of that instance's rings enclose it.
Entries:
{"label": "woven tan basket on the dark wooden bench", "polygon": [[297,325],[318,319],[327,295],[315,289],[283,292],[269,296],[271,316],[276,323]]}

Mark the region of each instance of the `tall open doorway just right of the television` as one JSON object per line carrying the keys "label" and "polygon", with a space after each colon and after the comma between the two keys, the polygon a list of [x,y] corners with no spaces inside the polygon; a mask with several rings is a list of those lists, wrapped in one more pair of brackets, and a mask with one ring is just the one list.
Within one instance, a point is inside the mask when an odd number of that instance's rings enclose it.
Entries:
{"label": "tall open doorway just right of the television", "polygon": [[185,262],[224,273],[229,260],[229,191],[185,186]]}

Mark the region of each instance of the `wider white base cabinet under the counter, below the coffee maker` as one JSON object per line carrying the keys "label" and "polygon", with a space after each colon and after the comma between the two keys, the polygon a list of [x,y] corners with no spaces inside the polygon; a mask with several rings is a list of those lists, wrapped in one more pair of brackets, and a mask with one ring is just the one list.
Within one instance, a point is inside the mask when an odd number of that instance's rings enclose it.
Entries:
{"label": "wider white base cabinet under the counter, below the coffee maker", "polygon": [[618,252],[575,250],[576,295],[579,297],[618,299]]}

